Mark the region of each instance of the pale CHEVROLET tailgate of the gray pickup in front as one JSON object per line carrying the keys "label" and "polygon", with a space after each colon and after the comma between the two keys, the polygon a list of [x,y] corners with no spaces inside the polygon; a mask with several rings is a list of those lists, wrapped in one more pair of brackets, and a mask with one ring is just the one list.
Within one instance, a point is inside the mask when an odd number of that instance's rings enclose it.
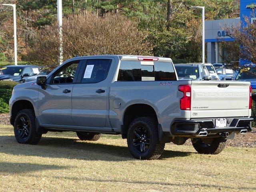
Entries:
{"label": "pale CHEVROLET tailgate of the gray pickup in front", "polygon": [[192,81],[191,118],[250,116],[250,82]]}

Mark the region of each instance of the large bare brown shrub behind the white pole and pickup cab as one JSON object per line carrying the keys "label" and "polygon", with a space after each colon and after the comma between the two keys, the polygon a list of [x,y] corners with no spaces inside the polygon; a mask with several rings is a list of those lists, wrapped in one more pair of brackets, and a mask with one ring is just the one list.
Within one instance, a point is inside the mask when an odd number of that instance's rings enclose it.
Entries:
{"label": "large bare brown shrub behind the white pole and pickup cab", "polygon": [[[152,46],[146,41],[147,33],[138,31],[137,23],[124,16],[69,16],[64,18],[62,28],[64,60],[77,55],[152,55]],[[27,59],[50,68],[58,66],[57,24],[40,30],[33,40]]]}

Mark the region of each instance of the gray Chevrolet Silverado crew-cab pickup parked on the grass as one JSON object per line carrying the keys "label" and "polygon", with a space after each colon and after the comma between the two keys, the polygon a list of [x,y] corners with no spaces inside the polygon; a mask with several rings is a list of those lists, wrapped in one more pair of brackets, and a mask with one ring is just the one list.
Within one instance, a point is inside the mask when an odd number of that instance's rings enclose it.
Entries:
{"label": "gray Chevrolet Silverado crew-cab pickup parked on the grass", "polygon": [[179,81],[170,58],[85,56],[15,86],[10,122],[19,143],[37,144],[48,131],[121,134],[132,156],[157,159],[165,143],[188,138],[199,153],[218,154],[252,130],[251,105],[249,82]]}

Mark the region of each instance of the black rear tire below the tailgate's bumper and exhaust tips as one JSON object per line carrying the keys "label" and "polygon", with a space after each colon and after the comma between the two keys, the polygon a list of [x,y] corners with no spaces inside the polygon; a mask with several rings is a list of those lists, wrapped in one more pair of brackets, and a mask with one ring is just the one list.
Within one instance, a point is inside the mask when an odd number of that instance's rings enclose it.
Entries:
{"label": "black rear tire below the tailgate's bumper and exhaust tips", "polygon": [[206,144],[202,139],[198,139],[195,143],[192,143],[194,149],[200,154],[219,154],[226,146],[226,140],[223,138],[213,138],[211,144]]}

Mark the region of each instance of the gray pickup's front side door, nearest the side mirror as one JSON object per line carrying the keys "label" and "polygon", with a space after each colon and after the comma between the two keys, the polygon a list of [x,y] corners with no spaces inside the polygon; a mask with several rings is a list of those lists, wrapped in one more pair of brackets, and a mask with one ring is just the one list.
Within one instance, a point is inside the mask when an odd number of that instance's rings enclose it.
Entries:
{"label": "gray pickup's front side door, nearest the side mirror", "polygon": [[42,124],[72,126],[72,90],[80,61],[64,64],[51,77],[46,89],[39,88],[38,114]]}

